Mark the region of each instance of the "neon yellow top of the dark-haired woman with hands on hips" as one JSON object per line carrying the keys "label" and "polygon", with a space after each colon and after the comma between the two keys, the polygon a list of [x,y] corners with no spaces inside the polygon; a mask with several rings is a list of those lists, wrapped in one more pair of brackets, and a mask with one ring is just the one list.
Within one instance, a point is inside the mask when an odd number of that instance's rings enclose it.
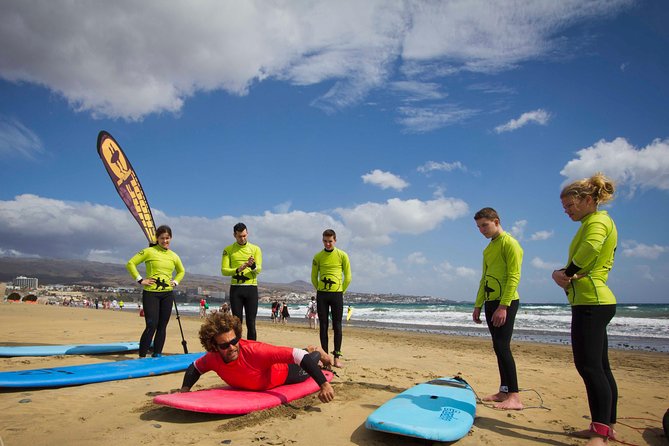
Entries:
{"label": "neon yellow top of the dark-haired woman with hands on hips", "polygon": [[[146,291],[172,291],[172,280],[179,283],[186,275],[186,270],[177,253],[159,245],[142,249],[128,260],[125,269],[128,270],[135,281],[142,278],[142,275],[137,271],[137,265],[140,263],[146,265],[146,277],[156,279],[156,283],[153,285],[144,285]],[[175,270],[177,274],[172,279]]]}

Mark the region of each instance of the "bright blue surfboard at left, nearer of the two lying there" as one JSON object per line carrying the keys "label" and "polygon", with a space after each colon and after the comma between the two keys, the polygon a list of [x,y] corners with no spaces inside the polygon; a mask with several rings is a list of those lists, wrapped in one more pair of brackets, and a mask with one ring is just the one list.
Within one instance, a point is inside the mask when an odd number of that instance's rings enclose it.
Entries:
{"label": "bright blue surfboard at left, nearer of the two lying there", "polygon": [[101,364],[0,372],[0,387],[63,387],[143,378],[186,370],[204,353],[138,358]]}

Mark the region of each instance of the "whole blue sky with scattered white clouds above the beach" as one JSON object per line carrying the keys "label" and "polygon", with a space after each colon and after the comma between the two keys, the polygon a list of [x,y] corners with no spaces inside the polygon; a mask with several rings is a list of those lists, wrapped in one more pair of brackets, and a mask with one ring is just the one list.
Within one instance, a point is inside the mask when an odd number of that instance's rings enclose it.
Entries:
{"label": "whole blue sky with scattered white clouds above the beach", "polygon": [[[232,226],[261,279],[309,280],[332,227],[350,289],[473,301],[492,206],[526,302],[578,224],[561,186],[603,171],[609,284],[669,293],[669,5],[657,1],[3,1],[0,256],[125,263],[144,245],[96,153],[125,150],[187,272]],[[130,279],[129,279],[130,280]]]}

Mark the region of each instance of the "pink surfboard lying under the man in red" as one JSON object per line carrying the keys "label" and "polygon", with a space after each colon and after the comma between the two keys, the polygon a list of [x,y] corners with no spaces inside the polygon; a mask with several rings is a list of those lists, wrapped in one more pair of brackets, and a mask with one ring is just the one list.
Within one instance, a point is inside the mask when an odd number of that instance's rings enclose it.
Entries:
{"label": "pink surfboard lying under the man in red", "polygon": [[[332,372],[324,370],[325,378],[332,381]],[[309,378],[297,384],[287,384],[270,390],[239,390],[232,387],[198,390],[186,393],[158,395],[153,402],[191,412],[243,415],[257,410],[280,406],[320,390]]]}

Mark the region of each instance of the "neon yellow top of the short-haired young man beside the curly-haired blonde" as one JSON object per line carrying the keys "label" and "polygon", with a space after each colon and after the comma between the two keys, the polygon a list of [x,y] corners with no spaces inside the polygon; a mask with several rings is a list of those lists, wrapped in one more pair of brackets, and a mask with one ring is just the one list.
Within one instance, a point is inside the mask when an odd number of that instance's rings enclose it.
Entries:
{"label": "neon yellow top of the short-haired young man beside the curly-haired blonde", "polygon": [[519,299],[518,284],[523,265],[523,248],[509,233],[502,232],[490,241],[483,250],[483,274],[474,306],[483,302],[499,300],[500,305],[509,306]]}

